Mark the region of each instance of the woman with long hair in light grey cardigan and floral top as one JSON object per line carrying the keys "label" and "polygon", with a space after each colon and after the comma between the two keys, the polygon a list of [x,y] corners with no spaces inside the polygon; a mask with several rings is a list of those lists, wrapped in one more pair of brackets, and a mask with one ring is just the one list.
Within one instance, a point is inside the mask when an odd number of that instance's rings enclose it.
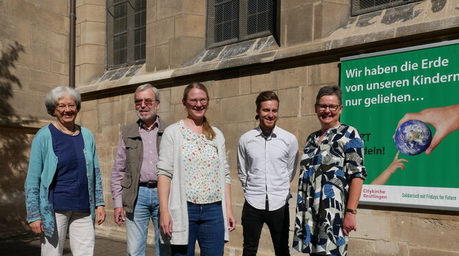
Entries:
{"label": "woman with long hair in light grey cardigan and floral top", "polygon": [[187,118],[164,130],[158,162],[162,242],[173,255],[223,255],[229,231],[236,227],[225,138],[204,114],[208,90],[198,83],[184,90]]}

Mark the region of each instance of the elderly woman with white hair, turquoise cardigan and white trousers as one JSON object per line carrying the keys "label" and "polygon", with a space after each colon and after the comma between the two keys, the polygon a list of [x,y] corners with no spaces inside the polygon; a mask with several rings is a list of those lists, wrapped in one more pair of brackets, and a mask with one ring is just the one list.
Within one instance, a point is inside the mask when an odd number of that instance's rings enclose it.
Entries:
{"label": "elderly woman with white hair, turquoise cardigan and white trousers", "polygon": [[46,95],[54,123],[34,137],[25,180],[27,222],[40,234],[41,255],[62,255],[69,229],[71,251],[93,255],[94,223],[106,218],[94,136],[75,125],[81,96],[59,86]]}

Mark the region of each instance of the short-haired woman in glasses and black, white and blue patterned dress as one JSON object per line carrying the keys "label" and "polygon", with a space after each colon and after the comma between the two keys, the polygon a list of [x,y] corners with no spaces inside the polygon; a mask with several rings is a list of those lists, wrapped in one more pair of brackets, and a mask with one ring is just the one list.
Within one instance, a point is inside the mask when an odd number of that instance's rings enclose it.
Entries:
{"label": "short-haired woman in glasses and black, white and blue patterned dress", "polygon": [[341,94],[338,86],[319,90],[321,129],[308,137],[301,157],[293,249],[310,255],[347,255],[348,235],[357,230],[367,171],[357,129],[339,121]]}

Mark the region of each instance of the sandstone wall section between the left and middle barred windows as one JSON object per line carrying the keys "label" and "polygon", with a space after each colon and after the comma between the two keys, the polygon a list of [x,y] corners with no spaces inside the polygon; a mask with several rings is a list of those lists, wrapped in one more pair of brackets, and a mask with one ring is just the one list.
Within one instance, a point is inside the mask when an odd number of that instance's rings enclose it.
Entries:
{"label": "sandstone wall section between the left and middle barred windows", "polygon": [[183,66],[204,47],[206,1],[147,1],[148,72]]}

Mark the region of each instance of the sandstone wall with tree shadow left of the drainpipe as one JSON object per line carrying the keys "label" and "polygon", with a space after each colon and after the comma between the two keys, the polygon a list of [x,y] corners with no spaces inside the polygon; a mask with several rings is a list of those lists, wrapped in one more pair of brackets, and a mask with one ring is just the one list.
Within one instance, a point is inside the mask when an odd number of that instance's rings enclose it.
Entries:
{"label": "sandstone wall with tree shadow left of the drainpipe", "polygon": [[67,1],[0,1],[0,237],[27,229],[24,181],[45,94],[69,81]]}

